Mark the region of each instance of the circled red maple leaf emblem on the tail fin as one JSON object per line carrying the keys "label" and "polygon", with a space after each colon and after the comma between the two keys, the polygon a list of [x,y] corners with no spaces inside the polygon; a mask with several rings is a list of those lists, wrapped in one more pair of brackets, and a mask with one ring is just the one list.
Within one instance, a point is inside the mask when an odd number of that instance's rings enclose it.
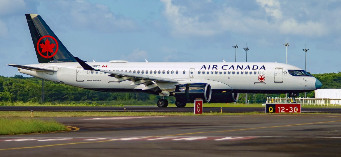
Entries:
{"label": "circled red maple leaf emblem on the tail fin", "polygon": [[[46,38],[46,39],[45,39]],[[45,39],[43,42],[44,43],[40,43],[40,41],[42,39]],[[51,41],[54,41],[55,43],[50,43]],[[56,48],[56,50],[53,50],[54,48]],[[41,37],[38,42],[37,42],[37,50],[38,50],[38,53],[44,57],[44,58],[51,58],[53,57],[54,55],[57,54],[57,51],[58,51],[58,42],[56,40],[56,38],[54,38],[53,36],[49,36],[49,35],[45,35],[43,37]],[[43,54],[46,52],[46,55]],[[48,55],[48,52],[51,53],[51,55]]]}

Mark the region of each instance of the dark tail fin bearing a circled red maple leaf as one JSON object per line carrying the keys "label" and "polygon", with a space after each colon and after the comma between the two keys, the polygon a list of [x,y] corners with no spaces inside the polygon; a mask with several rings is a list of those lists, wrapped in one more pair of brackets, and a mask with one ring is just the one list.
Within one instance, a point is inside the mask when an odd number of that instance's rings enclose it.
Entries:
{"label": "dark tail fin bearing a circled red maple leaf", "polygon": [[25,15],[39,63],[77,62],[42,17]]}

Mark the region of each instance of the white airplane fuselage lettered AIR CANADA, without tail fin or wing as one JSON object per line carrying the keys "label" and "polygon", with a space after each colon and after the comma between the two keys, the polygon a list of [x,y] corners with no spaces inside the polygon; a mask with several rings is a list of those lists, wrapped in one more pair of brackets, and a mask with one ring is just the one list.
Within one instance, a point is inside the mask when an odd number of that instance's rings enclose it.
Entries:
{"label": "white airplane fuselage lettered AIR CANADA, without tail fin or wing", "polygon": [[[301,69],[282,63],[87,62],[87,64],[95,69],[121,70],[178,80],[178,83],[158,83],[161,90],[195,82],[208,83],[212,90],[226,90],[232,93],[289,93],[316,89],[316,78],[293,76],[287,70]],[[108,73],[83,70],[77,62],[27,66],[58,71],[47,73],[20,69],[19,72],[80,88],[110,92],[134,92],[144,88],[143,84],[130,85],[132,82],[128,80],[114,82],[117,78],[108,76]]]}

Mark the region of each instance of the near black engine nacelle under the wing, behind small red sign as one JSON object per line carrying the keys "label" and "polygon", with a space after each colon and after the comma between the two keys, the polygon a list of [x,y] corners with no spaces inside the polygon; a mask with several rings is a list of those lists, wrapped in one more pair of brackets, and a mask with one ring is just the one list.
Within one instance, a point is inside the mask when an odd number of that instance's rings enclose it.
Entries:
{"label": "near black engine nacelle under the wing, behind small red sign", "polygon": [[173,95],[179,102],[194,103],[194,100],[198,98],[204,102],[210,102],[212,88],[207,83],[177,85]]}

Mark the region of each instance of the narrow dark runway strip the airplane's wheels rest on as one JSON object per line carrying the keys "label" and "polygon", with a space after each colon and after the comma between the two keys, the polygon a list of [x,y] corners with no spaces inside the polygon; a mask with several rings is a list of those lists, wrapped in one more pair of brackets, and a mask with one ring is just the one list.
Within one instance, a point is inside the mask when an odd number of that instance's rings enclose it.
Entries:
{"label": "narrow dark runway strip the airplane's wheels rest on", "polygon": [[[0,106],[0,111],[132,111],[132,112],[193,112],[193,107],[73,107],[73,106]],[[220,107],[203,107],[203,112],[218,111]],[[223,107],[223,112],[265,112],[265,107]],[[341,108],[302,107],[302,112],[340,113]]]}

